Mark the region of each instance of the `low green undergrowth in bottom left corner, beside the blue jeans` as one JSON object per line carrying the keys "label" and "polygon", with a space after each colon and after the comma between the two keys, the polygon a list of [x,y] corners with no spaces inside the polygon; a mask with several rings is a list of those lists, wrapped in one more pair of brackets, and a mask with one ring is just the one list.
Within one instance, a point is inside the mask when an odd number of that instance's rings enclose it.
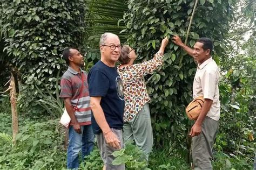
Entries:
{"label": "low green undergrowth in bottom left corner, beside the blue jeans", "polygon": [[16,145],[0,143],[0,169],[59,169],[65,167],[63,132],[57,120],[24,119]]}

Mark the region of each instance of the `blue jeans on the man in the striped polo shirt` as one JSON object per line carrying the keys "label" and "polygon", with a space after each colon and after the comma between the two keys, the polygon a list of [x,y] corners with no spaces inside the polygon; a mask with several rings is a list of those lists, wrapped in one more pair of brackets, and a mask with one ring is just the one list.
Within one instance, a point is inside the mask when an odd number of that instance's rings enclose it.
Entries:
{"label": "blue jeans on the man in the striped polo shirt", "polygon": [[67,154],[67,168],[77,169],[79,167],[78,153],[82,151],[82,160],[89,155],[94,146],[94,134],[91,125],[81,126],[82,133],[77,133],[73,126],[69,128],[69,148]]}

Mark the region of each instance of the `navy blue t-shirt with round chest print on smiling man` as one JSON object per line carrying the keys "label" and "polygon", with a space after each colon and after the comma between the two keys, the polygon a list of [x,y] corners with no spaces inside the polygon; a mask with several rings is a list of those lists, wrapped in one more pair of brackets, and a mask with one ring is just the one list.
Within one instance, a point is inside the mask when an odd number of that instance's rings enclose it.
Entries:
{"label": "navy blue t-shirt with round chest print on smiling man", "polygon": [[[100,106],[110,128],[122,129],[124,125],[124,93],[123,83],[116,67],[109,67],[98,61],[87,77],[91,97],[101,96]],[[93,113],[94,114],[94,113]],[[102,132],[92,114],[93,133]]]}

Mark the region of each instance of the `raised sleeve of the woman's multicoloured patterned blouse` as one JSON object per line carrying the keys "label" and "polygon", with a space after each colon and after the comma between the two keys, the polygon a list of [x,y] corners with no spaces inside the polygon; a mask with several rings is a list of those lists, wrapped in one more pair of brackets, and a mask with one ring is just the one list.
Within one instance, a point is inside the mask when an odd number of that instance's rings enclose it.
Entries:
{"label": "raised sleeve of the woman's multicoloured patterned blouse", "polygon": [[164,63],[164,55],[161,52],[157,52],[154,55],[154,58],[149,60],[149,61],[145,61],[143,63],[140,64],[141,66],[141,73],[143,74],[143,76],[150,74],[152,72],[154,72],[154,70],[158,69],[161,65],[163,65]]}

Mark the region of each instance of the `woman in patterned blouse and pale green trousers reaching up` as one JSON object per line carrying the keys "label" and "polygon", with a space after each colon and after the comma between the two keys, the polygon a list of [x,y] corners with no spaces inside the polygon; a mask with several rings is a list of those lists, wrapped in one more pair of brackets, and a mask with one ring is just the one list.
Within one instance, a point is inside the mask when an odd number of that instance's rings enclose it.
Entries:
{"label": "woman in patterned blouse and pale green trousers reaching up", "polygon": [[125,45],[121,49],[118,73],[124,84],[124,140],[135,141],[144,152],[148,162],[153,146],[153,133],[150,120],[150,97],[147,94],[144,76],[163,65],[163,53],[169,40],[164,38],[154,58],[143,63],[133,64],[137,58],[134,49]]}

